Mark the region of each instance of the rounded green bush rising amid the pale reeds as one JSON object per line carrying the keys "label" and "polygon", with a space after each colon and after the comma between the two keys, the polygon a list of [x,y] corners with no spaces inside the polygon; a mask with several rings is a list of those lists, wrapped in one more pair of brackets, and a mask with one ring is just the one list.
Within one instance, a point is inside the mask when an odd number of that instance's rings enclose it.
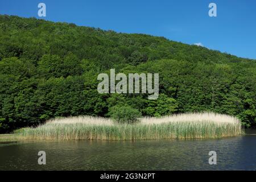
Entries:
{"label": "rounded green bush rising amid the pale reeds", "polygon": [[116,105],[110,108],[110,117],[118,123],[135,123],[139,121],[142,116],[141,112],[137,109],[133,109],[130,106]]}

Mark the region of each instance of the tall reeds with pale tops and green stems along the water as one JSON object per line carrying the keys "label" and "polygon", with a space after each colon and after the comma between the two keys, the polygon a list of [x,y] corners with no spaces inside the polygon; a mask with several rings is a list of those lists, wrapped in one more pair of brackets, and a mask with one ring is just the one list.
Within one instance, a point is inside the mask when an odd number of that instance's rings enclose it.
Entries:
{"label": "tall reeds with pale tops and green stems along the water", "polygon": [[237,118],[213,113],[142,118],[133,125],[106,118],[71,117],[20,131],[23,137],[32,140],[214,139],[242,133]]}

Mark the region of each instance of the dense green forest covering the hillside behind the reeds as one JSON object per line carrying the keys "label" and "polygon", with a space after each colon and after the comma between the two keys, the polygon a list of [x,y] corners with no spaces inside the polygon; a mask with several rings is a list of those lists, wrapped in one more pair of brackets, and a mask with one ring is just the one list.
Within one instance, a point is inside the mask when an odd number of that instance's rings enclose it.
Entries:
{"label": "dense green forest covering the hillside behind the reeds", "polygon": [[[99,73],[159,73],[159,98],[99,94]],[[0,133],[75,115],[194,111],[256,125],[256,61],[163,37],[0,15]]]}

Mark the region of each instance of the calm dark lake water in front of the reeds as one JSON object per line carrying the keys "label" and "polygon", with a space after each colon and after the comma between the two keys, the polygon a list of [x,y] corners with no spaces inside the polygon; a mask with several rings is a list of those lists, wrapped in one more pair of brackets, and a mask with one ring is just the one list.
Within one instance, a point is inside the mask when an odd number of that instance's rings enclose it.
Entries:
{"label": "calm dark lake water in front of the reeds", "polygon": [[[0,144],[0,170],[256,170],[256,130],[211,140]],[[46,165],[38,152],[46,152]],[[217,165],[209,165],[209,151]]]}

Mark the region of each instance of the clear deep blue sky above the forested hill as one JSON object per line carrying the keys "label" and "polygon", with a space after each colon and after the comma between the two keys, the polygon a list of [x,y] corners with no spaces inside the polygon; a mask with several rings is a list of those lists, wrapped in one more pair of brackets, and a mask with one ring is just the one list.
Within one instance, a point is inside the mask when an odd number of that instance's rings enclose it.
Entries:
{"label": "clear deep blue sky above the forested hill", "polygon": [[[187,44],[256,59],[255,0],[0,0],[0,14],[38,17],[126,33],[164,36]],[[209,17],[209,3],[217,17]]]}

